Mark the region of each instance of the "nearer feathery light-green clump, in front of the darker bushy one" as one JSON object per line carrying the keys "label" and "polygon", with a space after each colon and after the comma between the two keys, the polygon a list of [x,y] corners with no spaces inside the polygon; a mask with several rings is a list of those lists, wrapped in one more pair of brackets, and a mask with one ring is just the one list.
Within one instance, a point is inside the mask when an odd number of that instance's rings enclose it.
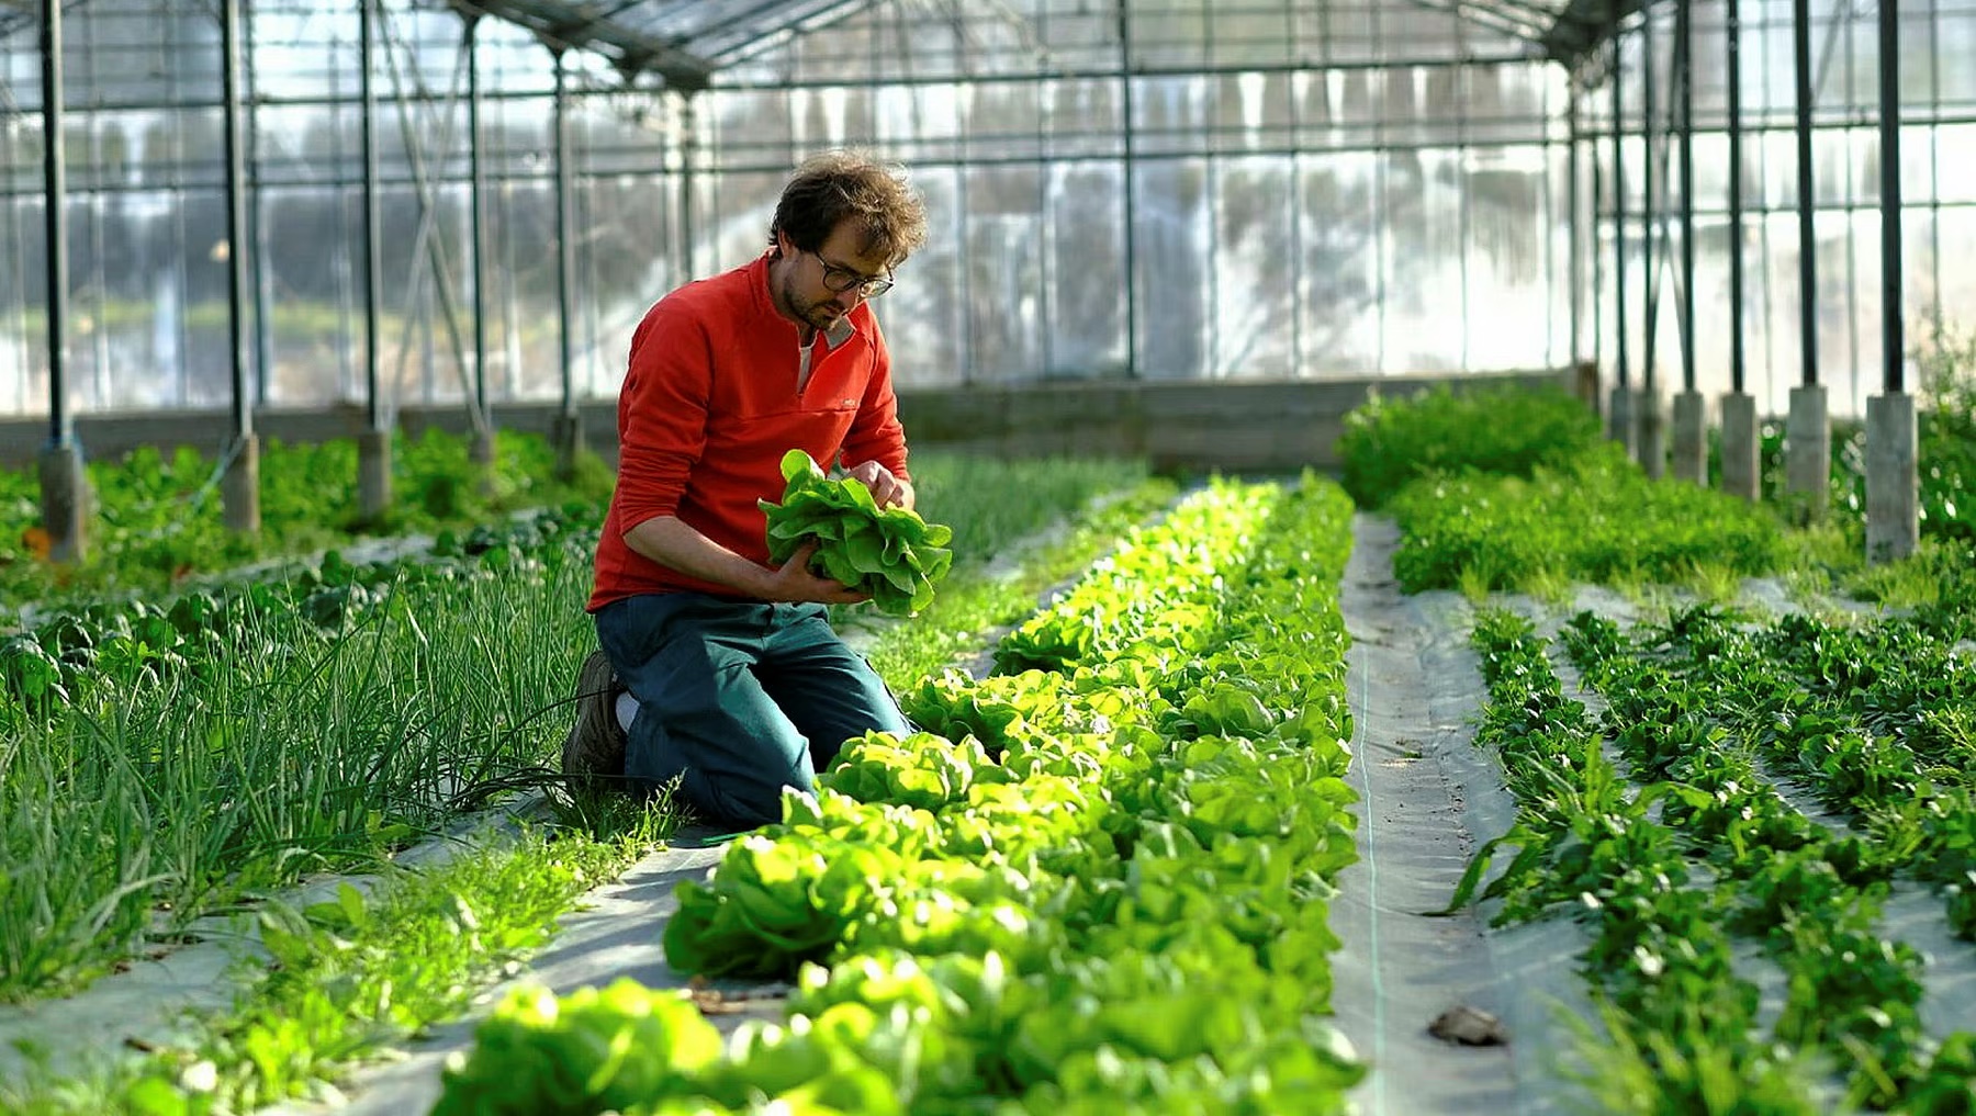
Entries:
{"label": "nearer feathery light-green clump, in front of the darker bushy one", "polygon": [[1403,539],[1393,573],[1423,589],[1555,591],[1569,581],[1721,585],[1763,575],[1784,555],[1776,516],[1678,480],[1648,480],[1612,442],[1533,476],[1441,474],[1387,510]]}

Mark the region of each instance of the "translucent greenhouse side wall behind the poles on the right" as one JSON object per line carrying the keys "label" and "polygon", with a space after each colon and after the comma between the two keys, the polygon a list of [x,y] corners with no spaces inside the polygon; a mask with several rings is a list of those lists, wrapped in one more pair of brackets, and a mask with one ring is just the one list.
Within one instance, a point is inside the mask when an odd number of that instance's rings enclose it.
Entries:
{"label": "translucent greenhouse side wall behind the poles on the right", "polygon": [[[1818,377],[1836,413],[1863,415],[1865,397],[1881,391],[1881,211],[1879,211],[1879,55],[1873,6],[1812,2],[1812,198],[1816,209],[1816,336]],[[1743,77],[1743,336],[1747,391],[1769,413],[1788,409],[1790,387],[1802,379],[1798,282],[1796,69],[1792,65],[1790,0],[1741,2]],[[1668,111],[1674,103],[1674,14],[1656,12],[1656,194],[1666,227],[1656,253],[1658,277],[1656,383],[1662,393],[1682,387],[1678,203],[1680,162],[1672,156]],[[1962,336],[1976,330],[1976,273],[1958,261],[1976,259],[1976,4],[1911,0],[1901,4],[1901,194],[1905,253],[1905,320],[1911,350],[1929,346],[1938,328]],[[1640,219],[1646,184],[1642,103],[1646,67],[1642,34],[1624,38],[1626,150],[1626,340],[1638,383],[1646,350],[1642,263],[1646,223]],[[1693,8],[1695,113],[1695,379],[1715,395],[1729,389],[1729,142],[1727,36],[1721,4]],[[1583,124],[1610,132],[1610,91],[1585,101]],[[1587,146],[1587,156],[1593,152]],[[1599,138],[1610,162],[1610,140]],[[1603,180],[1599,221],[1603,306],[1599,346],[1610,373],[1616,348],[1612,306],[1610,178]],[[1591,164],[1581,176],[1591,199]],[[1589,275],[1589,271],[1587,271]],[[1585,342],[1591,346],[1591,338]],[[1909,391],[1919,383],[1909,373]]]}

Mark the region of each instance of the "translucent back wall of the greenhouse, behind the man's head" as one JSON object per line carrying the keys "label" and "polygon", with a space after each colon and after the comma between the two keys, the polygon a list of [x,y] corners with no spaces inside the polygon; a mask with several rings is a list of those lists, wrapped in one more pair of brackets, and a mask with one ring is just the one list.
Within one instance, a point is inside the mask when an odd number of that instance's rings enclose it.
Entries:
{"label": "translucent back wall of the greenhouse, behind the man's head", "polygon": [[694,192],[713,263],[852,142],[933,203],[883,308],[919,381],[1563,363],[1563,79],[1522,43],[1407,4],[1024,14],[885,6],[741,67]]}

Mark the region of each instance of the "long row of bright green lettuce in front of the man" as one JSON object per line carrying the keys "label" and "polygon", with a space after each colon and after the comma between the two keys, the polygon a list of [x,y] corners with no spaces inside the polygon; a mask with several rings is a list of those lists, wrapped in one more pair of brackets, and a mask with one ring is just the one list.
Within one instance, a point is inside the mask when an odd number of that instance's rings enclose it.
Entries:
{"label": "long row of bright green lettuce in front of the man", "polygon": [[668,962],[794,980],[786,1019],[520,990],[437,1112],[1344,1112],[1350,514],[1201,490],[682,885]]}

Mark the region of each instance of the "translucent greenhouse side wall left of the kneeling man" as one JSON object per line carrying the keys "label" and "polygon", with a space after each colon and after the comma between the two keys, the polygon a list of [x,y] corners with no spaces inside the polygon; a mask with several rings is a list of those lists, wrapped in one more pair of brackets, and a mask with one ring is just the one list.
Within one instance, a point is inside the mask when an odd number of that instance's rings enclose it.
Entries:
{"label": "translucent greenhouse side wall left of the kneeling man", "polygon": [[[385,6],[373,85],[381,395],[460,399],[474,267],[464,24]],[[356,6],[253,4],[249,164],[253,381],[271,405],[366,397],[366,239]],[[488,397],[555,397],[555,69],[496,20],[476,32],[486,166]],[[77,411],[223,407],[229,397],[219,32],[209,6],[85,0],[65,20]],[[0,413],[45,413],[41,113],[36,30],[4,59]],[[615,391],[630,324],[680,269],[662,103],[571,63],[577,393]],[[188,77],[188,75],[198,75]]]}

